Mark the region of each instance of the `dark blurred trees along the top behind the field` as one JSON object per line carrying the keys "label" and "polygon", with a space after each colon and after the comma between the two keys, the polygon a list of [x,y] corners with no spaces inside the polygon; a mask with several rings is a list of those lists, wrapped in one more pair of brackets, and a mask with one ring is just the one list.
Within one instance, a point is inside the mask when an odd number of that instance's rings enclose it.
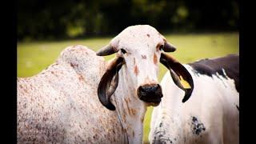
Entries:
{"label": "dark blurred trees along the top behind the field", "polygon": [[238,30],[238,0],[18,0],[18,40],[116,34],[135,24],[158,30]]}

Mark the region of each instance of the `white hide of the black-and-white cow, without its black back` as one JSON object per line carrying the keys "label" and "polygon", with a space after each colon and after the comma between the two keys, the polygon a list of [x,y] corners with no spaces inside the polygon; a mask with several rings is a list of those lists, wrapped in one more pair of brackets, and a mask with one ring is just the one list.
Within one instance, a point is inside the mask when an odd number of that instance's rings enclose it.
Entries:
{"label": "white hide of the black-and-white cow, without its black back", "polygon": [[[219,74],[195,74],[192,67],[183,66],[194,80],[194,91],[182,103],[184,92],[166,72],[161,82],[162,102],[154,107],[151,117],[150,142],[239,143],[239,94],[234,80]],[[194,133],[193,117],[204,127],[198,134]]]}

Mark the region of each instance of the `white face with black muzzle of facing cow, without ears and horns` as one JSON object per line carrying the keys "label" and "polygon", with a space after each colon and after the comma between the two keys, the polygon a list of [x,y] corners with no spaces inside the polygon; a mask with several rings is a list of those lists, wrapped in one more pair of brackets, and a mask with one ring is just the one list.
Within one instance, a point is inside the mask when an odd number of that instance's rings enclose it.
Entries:
{"label": "white face with black muzzle of facing cow, without ears and horns", "polygon": [[157,30],[147,26],[140,30],[130,27],[122,33],[118,35],[117,54],[126,63],[122,69],[135,86],[138,98],[150,105],[158,105],[162,98],[158,65],[162,49],[168,44]]}

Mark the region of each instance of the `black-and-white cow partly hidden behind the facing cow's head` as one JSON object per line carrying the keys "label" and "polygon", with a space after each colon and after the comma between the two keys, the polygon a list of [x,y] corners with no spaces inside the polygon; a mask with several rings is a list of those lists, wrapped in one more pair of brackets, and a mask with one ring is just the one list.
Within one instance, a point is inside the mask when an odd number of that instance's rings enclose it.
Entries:
{"label": "black-and-white cow partly hidden behind the facing cow's head", "polygon": [[[239,56],[186,65],[168,57],[171,77],[165,74],[161,82],[163,98],[154,107],[150,142],[239,143]],[[187,90],[183,100],[184,92],[174,84],[177,67],[187,79],[182,84]]]}

